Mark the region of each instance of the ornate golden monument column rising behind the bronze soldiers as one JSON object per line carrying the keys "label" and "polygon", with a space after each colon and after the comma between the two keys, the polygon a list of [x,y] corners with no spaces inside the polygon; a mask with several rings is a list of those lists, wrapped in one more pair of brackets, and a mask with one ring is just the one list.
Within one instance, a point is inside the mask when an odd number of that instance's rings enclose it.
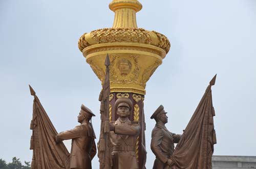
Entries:
{"label": "ornate golden monument column rising behind the bronze soldiers", "polygon": [[143,101],[146,82],[161,65],[170,49],[170,43],[160,33],[137,27],[136,13],[142,9],[137,0],[113,0],[109,7],[115,12],[113,27],[83,34],[78,41],[78,47],[101,84],[105,78],[105,57],[109,54],[110,121],[117,119],[115,101],[118,98],[131,99],[133,108],[130,119],[139,123],[142,129],[137,139],[136,157],[140,168],[144,168]]}

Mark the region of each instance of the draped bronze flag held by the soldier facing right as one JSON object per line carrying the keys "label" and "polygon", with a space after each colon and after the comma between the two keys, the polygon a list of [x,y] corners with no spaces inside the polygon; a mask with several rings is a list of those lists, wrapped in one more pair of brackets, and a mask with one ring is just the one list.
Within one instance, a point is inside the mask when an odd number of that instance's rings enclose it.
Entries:
{"label": "draped bronze flag held by the soldier facing right", "polygon": [[211,86],[215,84],[216,75],[210,81],[203,98],[191,117],[173,155],[170,157],[172,169],[210,169],[214,153],[216,133],[214,130],[215,111],[212,106]]}

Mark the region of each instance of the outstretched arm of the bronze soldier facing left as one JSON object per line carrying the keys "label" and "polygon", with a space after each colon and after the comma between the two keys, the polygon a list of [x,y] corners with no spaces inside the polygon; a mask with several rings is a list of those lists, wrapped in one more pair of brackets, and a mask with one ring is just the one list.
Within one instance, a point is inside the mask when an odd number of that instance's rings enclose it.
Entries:
{"label": "outstretched arm of the bronze soldier facing left", "polygon": [[62,140],[68,140],[68,139],[80,137],[81,130],[82,130],[81,127],[77,126],[74,129],[60,132],[56,136],[56,142],[60,142]]}

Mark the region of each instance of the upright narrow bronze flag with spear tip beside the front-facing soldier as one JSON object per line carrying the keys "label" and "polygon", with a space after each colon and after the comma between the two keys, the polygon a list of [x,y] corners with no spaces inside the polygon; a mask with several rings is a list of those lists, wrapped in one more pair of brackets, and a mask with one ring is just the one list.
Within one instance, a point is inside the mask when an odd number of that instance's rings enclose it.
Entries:
{"label": "upright narrow bronze flag with spear tip beside the front-facing soldier", "polygon": [[105,59],[105,80],[103,89],[99,96],[100,103],[100,138],[98,143],[98,157],[100,169],[110,169],[112,167],[111,151],[110,151],[110,124],[109,124],[109,95],[110,95],[110,59],[106,55]]}

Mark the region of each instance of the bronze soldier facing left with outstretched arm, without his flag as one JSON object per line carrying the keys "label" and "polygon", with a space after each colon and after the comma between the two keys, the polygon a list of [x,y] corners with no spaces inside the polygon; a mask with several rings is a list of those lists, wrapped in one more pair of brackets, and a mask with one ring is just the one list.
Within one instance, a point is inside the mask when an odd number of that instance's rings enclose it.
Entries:
{"label": "bronze soldier facing left with outstretched arm, without his flag", "polygon": [[90,123],[92,111],[81,105],[81,110],[77,116],[81,124],[72,130],[60,132],[56,136],[56,142],[72,139],[70,168],[91,169],[92,159],[96,154],[95,133]]}

